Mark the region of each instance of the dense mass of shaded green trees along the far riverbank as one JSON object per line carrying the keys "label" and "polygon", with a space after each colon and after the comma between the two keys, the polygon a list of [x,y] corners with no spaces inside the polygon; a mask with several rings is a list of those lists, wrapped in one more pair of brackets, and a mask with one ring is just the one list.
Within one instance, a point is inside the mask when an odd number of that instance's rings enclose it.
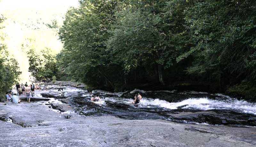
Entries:
{"label": "dense mass of shaded green trees along the far riverbank", "polygon": [[255,14],[254,0],[82,0],[59,31],[57,67],[62,77],[116,91],[253,91]]}

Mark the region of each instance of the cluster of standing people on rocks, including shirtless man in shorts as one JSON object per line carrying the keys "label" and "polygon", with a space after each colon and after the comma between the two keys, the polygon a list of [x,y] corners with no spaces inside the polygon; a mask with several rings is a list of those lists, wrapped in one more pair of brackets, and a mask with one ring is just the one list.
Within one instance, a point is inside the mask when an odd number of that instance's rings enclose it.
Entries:
{"label": "cluster of standing people on rocks, including shirtless man in shorts", "polygon": [[25,85],[23,85],[23,83],[21,83],[21,85],[19,83],[16,84],[16,89],[17,89],[17,93],[19,93],[19,96],[21,94],[24,94],[25,97],[27,97],[28,102],[30,103],[30,97],[34,96],[35,94],[35,85],[34,83],[32,83],[31,85],[28,85],[28,83],[26,82]]}

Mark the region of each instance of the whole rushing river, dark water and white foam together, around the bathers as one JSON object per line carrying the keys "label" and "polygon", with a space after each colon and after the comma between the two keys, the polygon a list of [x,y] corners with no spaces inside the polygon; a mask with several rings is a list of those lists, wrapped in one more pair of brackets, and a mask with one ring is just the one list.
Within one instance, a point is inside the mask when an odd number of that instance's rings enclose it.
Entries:
{"label": "whole rushing river, dark water and white foam together, around the bathers", "polygon": [[[207,92],[195,91],[142,91],[135,89],[131,92],[105,92],[93,91],[92,93],[101,97],[98,102],[91,102],[91,94],[85,90],[67,87],[64,89],[65,95],[71,97],[71,105],[76,111],[83,115],[113,115],[124,119],[165,119],[184,123],[200,124],[222,124],[222,122],[212,122],[209,116],[218,114],[220,117],[227,117],[236,120],[242,117],[249,121],[233,122],[235,125],[254,125],[256,118],[256,104],[245,100],[230,98],[222,94],[210,94]],[[143,99],[139,104],[131,104],[136,92],[140,92]],[[182,108],[177,108],[184,106]],[[186,118],[176,118],[180,113],[211,113],[201,120]],[[175,117],[173,117],[175,115]],[[202,117],[205,114],[200,114]],[[216,116],[213,116],[216,117]],[[236,118],[237,117],[237,118]],[[239,117],[239,118],[238,118]],[[214,120],[215,118],[213,118]],[[204,122],[207,121],[207,122]],[[251,121],[250,121],[251,120]],[[223,122],[226,123],[225,120]],[[229,122],[228,122],[229,123]]]}

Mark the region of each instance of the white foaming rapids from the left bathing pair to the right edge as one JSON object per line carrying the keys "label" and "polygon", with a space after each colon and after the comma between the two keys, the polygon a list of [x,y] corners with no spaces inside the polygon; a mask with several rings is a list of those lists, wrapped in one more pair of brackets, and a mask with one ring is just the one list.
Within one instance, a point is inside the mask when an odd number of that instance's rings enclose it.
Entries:
{"label": "white foaming rapids from the left bathing pair to the right edge", "polygon": [[[168,102],[161,99],[151,99],[143,98],[140,103],[137,104],[138,107],[164,107],[167,109],[177,109],[179,106],[188,105],[183,107],[183,109],[199,109],[199,110],[233,110],[240,113],[249,113],[256,115],[256,104],[250,103],[245,100],[237,100],[235,98],[230,98],[229,96],[215,94],[216,96],[222,96],[217,99],[209,99],[207,97],[202,98],[188,98],[180,102]],[[88,95],[84,95],[88,96]],[[100,105],[105,105],[105,101],[112,101],[115,103],[125,103],[131,104],[130,101],[133,99],[124,99],[119,97],[106,97],[101,99],[99,102],[95,102]]]}

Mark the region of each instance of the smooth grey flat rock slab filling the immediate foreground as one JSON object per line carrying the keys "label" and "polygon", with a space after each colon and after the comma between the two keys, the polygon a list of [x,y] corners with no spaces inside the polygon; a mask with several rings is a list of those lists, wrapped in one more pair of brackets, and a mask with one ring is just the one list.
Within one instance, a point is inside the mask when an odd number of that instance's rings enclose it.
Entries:
{"label": "smooth grey flat rock slab filling the immediate foreground", "polygon": [[[46,121],[37,127],[5,126],[4,146],[255,146],[255,128],[177,124],[164,120],[123,120],[113,116]],[[6,127],[8,126],[8,127]],[[6,138],[9,138],[6,140]],[[19,140],[19,142],[16,142]]]}

